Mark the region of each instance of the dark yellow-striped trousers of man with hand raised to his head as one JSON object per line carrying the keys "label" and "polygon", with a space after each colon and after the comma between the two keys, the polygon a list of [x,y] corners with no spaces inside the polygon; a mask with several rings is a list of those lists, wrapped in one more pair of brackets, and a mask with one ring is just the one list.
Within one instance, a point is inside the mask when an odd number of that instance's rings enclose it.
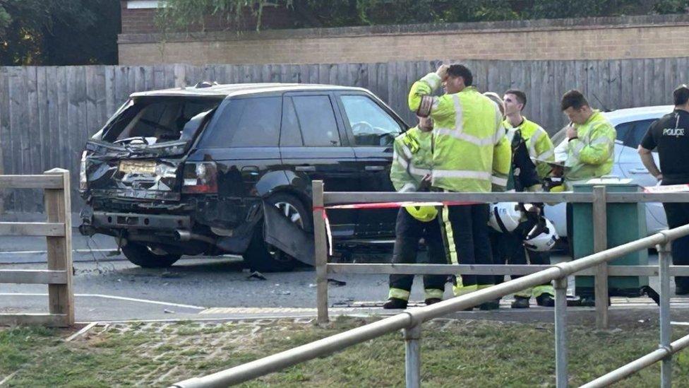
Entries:
{"label": "dark yellow-striped trousers of man with hand raised to his head", "polygon": [[[488,204],[443,206],[439,216],[452,264],[492,264]],[[493,275],[462,275],[457,278],[455,295],[493,285],[494,281]]]}

